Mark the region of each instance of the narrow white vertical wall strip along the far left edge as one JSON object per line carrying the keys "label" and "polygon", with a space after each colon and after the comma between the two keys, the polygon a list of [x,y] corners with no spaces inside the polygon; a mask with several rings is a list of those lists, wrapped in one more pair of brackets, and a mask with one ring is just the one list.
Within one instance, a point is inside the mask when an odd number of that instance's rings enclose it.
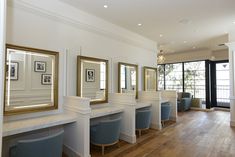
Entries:
{"label": "narrow white vertical wall strip along the far left edge", "polygon": [[[6,0],[0,1],[0,90],[3,91],[4,64],[5,64],[5,20]],[[3,121],[3,92],[0,94],[0,157],[2,152],[2,121]]]}

